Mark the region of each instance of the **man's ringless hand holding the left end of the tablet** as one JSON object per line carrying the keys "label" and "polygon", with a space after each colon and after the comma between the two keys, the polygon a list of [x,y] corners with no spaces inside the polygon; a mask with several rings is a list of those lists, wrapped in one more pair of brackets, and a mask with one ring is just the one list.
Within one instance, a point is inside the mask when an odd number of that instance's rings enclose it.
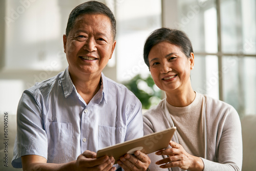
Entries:
{"label": "man's ringless hand holding the left end of the tablet", "polygon": [[113,157],[103,156],[96,158],[96,153],[85,151],[83,154],[78,156],[74,170],[114,171],[116,170],[115,167],[112,167],[114,163],[115,159]]}

